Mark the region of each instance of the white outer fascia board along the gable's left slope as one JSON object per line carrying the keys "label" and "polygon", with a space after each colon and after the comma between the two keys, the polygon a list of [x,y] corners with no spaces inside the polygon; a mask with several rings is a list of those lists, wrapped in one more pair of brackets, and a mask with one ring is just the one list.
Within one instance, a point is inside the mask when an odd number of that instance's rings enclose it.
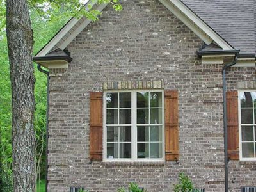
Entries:
{"label": "white outer fascia board along the gable's left slope", "polygon": [[[89,10],[88,6],[90,4],[90,6],[93,6],[94,4],[96,4],[98,1],[92,1],[92,2],[88,2],[85,6],[86,10]],[[83,16],[82,16],[83,17]],[[51,49],[58,44],[58,42],[60,42],[61,38],[63,38],[68,31],[70,31],[70,29],[72,29],[77,22],[82,18],[80,17],[79,19],[77,19],[76,17],[73,17],[72,19],[70,19],[68,21],[68,23],[52,38],[52,40],[50,42],[48,42],[45,47],[38,52],[38,54],[36,54],[36,57],[42,57],[45,56],[49,51],[51,51]]]}

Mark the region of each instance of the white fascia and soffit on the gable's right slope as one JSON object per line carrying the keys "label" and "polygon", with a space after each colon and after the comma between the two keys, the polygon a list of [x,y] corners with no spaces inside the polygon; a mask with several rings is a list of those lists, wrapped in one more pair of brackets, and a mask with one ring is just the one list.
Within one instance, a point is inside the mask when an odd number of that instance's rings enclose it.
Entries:
{"label": "white fascia and soffit on the gable's right slope", "polygon": [[[216,42],[223,50],[233,50],[220,35],[211,29],[205,22],[200,19],[195,13],[184,5],[180,0],[159,0],[168,8],[176,17],[178,17],[191,31],[193,31],[205,44]],[[188,17],[188,18],[186,18]],[[192,21],[192,22],[191,22]]]}

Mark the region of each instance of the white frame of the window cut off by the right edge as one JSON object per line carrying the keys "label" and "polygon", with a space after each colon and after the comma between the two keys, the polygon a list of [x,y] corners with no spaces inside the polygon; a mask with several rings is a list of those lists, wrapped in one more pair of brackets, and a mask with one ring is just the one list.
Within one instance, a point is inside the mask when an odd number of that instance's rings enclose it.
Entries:
{"label": "white frame of the window cut off by the right edge", "polygon": [[[256,157],[251,157],[251,158],[243,157],[243,151],[242,151],[243,150],[243,148],[242,148],[242,126],[243,125],[252,125],[253,128],[254,128],[254,126],[256,126],[256,122],[255,122],[255,124],[243,124],[242,125],[242,123],[241,123],[241,100],[240,100],[240,93],[241,92],[242,93],[243,92],[256,92],[256,90],[239,90],[237,92],[237,94],[238,94],[238,122],[239,122],[239,159],[240,159],[240,161],[256,161]],[[255,108],[254,102],[253,102],[253,108]],[[253,120],[255,120],[254,113],[253,113]],[[253,134],[254,134],[254,137],[255,137],[255,129],[253,129]],[[256,141],[256,138],[255,138],[255,141]],[[255,147],[255,145],[254,145],[254,147]],[[255,152],[255,149],[254,149],[254,152]]]}

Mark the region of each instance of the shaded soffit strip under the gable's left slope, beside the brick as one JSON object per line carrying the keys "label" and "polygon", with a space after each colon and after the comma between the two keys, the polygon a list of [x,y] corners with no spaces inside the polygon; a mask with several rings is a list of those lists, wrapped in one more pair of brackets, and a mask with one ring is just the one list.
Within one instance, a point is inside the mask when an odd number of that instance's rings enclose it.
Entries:
{"label": "shaded soffit strip under the gable's left slope, beside the brick", "polygon": [[[107,6],[107,4],[100,4],[96,10],[99,10],[100,12]],[[74,40],[74,38],[76,38],[77,35],[79,35],[79,33],[81,33],[81,31],[83,31],[84,28],[86,28],[86,26],[88,26],[88,24],[90,24],[90,22],[92,22],[92,20],[89,19],[85,19],[80,25],[79,27],[73,31],[70,36],[68,36],[68,38],[59,46],[60,49],[65,49],[71,42],[72,40]]]}

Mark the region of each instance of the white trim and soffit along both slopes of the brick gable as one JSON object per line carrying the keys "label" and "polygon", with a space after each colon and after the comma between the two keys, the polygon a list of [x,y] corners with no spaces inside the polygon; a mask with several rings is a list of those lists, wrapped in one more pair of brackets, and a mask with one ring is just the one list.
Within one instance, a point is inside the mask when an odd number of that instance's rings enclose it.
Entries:
{"label": "white trim and soffit along both slopes of the brick gable", "polygon": [[[191,31],[193,31],[199,38],[201,38],[207,45],[211,42],[216,42],[223,50],[233,50],[234,48],[229,45],[218,33],[211,29],[205,22],[200,19],[195,13],[183,4],[180,0],[159,0],[168,8],[176,17],[178,17]],[[97,1],[92,1],[86,4],[91,6],[97,4]],[[100,4],[95,9],[102,11],[107,4]],[[77,19],[73,17],[68,23],[50,40],[45,47],[43,47],[35,57],[45,56],[52,49],[60,48],[65,49],[76,36],[83,31],[92,20],[80,17]]]}

